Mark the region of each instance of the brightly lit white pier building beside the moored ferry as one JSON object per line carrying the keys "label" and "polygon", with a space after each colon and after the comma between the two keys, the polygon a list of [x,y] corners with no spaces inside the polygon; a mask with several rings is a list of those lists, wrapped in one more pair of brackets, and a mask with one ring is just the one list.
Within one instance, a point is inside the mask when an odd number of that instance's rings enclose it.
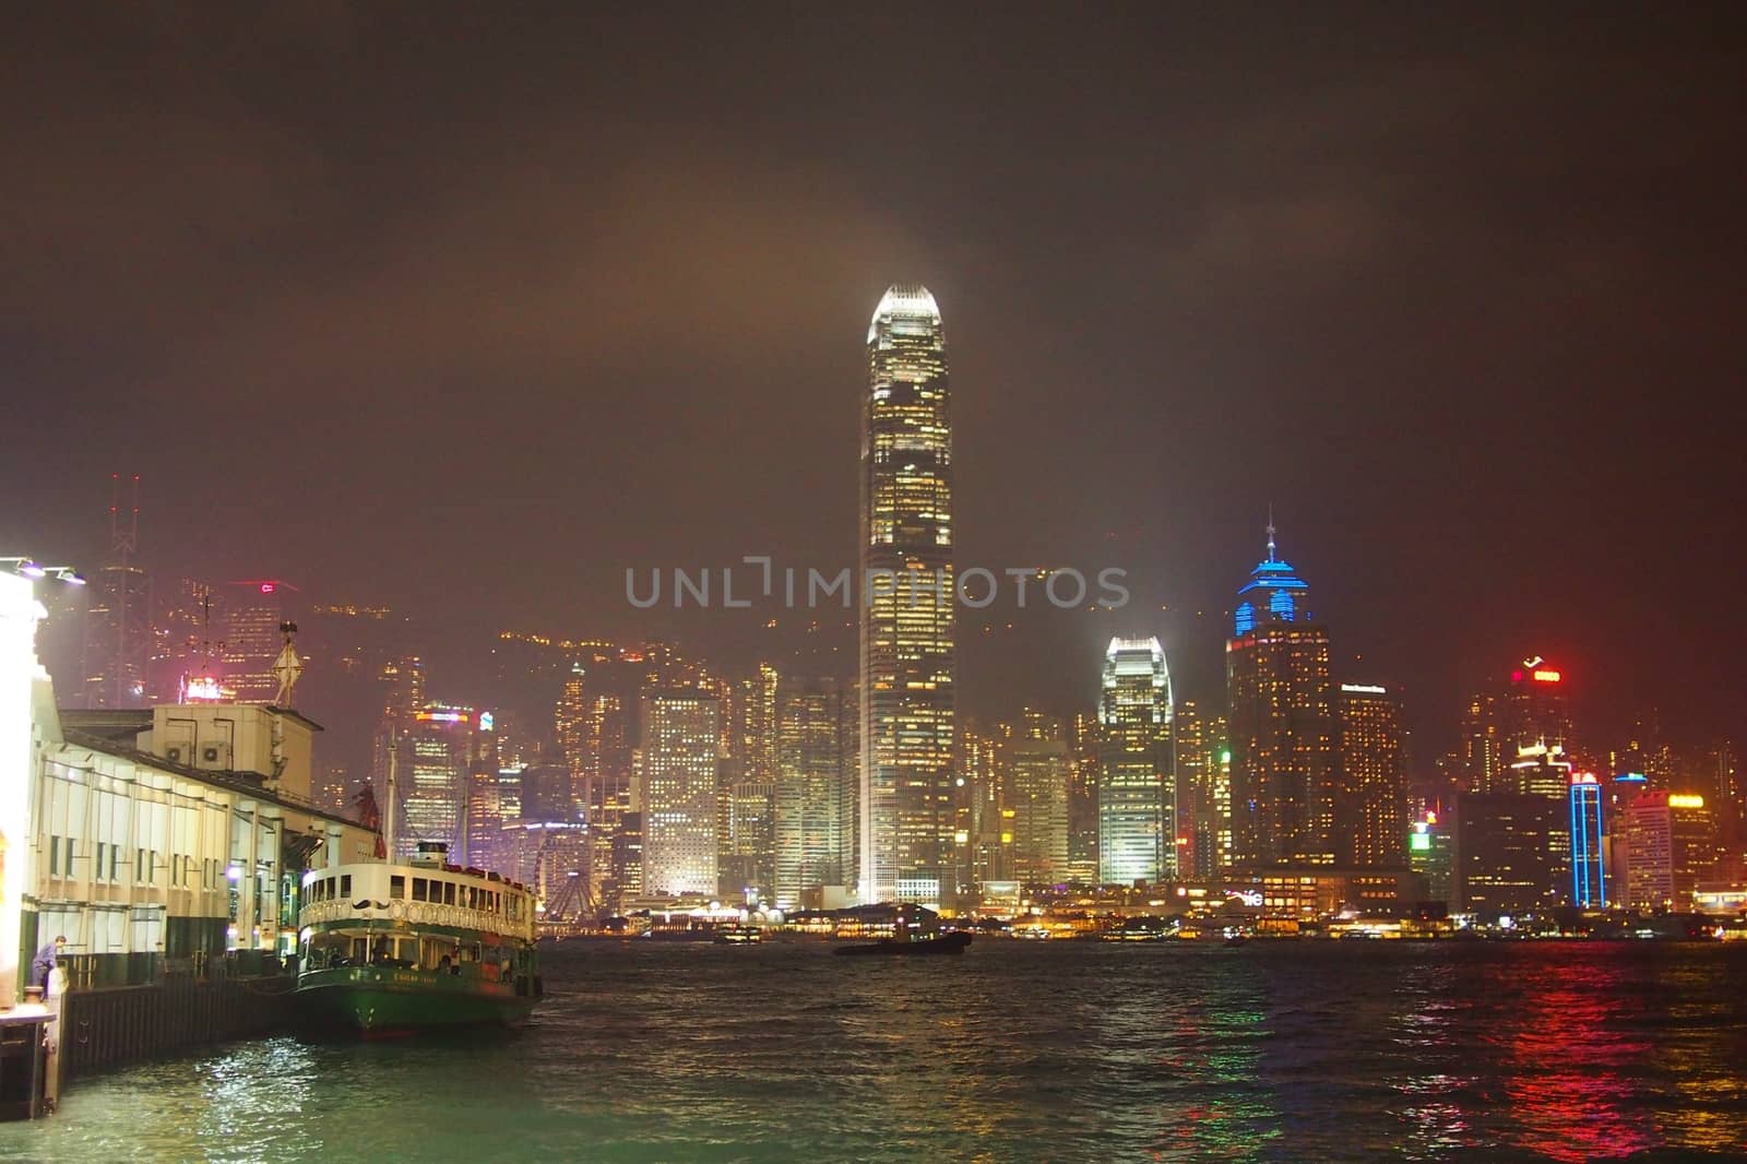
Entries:
{"label": "brightly lit white pier building beside the moored ferry", "polygon": [[300,876],[374,834],[314,806],[320,731],[225,704],[56,710],[28,580],[0,575],[0,1007],[66,935],[73,986],[157,982],[297,942]]}

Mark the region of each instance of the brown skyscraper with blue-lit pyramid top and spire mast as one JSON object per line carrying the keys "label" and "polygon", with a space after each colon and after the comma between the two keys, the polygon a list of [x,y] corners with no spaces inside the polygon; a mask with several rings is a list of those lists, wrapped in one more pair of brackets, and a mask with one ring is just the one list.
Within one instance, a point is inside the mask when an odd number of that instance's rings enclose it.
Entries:
{"label": "brown skyscraper with blue-lit pyramid top and spire mast", "polygon": [[1335,858],[1335,690],[1328,627],[1310,589],[1275,554],[1239,591],[1225,645],[1232,711],[1232,862]]}

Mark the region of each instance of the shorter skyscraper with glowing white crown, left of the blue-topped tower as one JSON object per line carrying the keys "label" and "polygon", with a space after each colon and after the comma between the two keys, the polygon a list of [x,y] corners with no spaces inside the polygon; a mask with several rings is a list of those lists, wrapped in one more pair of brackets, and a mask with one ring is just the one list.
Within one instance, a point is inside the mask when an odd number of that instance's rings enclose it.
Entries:
{"label": "shorter skyscraper with glowing white crown, left of the blue-topped tower", "polygon": [[1097,779],[1097,876],[1104,884],[1177,874],[1170,718],[1165,648],[1157,638],[1109,640]]}

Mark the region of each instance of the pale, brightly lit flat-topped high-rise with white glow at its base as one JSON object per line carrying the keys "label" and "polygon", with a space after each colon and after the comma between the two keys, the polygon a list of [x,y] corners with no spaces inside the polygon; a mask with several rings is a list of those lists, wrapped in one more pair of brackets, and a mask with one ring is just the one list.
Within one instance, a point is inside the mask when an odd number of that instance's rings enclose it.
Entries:
{"label": "pale, brightly lit flat-topped high-rise with white glow at its base", "polygon": [[641,718],[643,891],[715,895],[722,704],[695,690],[650,692]]}

